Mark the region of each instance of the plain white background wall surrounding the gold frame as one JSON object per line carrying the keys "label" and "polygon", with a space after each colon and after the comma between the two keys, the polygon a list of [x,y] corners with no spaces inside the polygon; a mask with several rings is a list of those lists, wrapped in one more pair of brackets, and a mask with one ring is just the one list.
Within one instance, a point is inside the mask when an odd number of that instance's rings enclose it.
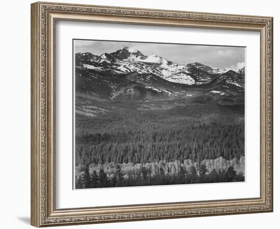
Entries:
{"label": "plain white background wall surrounding the gold frame", "polygon": [[[280,7],[278,1],[93,0],[68,3],[185,10],[274,17],[274,212],[246,215],[80,225],[71,228],[278,228]],[[30,3],[3,1],[0,23],[1,228],[30,228]],[[64,227],[65,228],[65,227]],[[70,227],[69,227],[70,228]]]}

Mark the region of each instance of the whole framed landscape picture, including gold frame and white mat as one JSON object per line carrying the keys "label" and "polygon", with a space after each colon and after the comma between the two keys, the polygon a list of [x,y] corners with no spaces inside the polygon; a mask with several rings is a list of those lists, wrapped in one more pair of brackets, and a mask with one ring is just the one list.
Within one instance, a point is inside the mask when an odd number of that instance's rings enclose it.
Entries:
{"label": "whole framed landscape picture, including gold frame and white mat", "polygon": [[273,211],[272,17],[31,5],[31,224]]}

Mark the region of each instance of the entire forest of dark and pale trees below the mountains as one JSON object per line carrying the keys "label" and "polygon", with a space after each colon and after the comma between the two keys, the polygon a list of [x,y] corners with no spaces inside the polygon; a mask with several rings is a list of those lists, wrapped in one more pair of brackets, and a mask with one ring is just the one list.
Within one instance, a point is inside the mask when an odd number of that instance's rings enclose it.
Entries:
{"label": "entire forest of dark and pale trees below the mountains", "polygon": [[244,181],[243,105],[102,107],[76,113],[76,188]]}

